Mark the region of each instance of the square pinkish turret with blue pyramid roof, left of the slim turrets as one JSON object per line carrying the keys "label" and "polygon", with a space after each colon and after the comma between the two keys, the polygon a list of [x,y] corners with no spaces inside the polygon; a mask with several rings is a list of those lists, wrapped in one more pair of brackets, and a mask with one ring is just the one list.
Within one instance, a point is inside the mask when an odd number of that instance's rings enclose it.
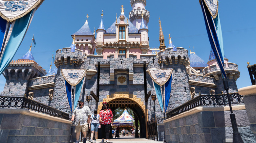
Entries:
{"label": "square pinkish turret with blue pyramid roof, left of the slim turrets", "polygon": [[88,24],[88,14],[86,15],[86,22],[84,25],[76,31],[72,36],[76,37],[75,47],[82,50],[86,55],[94,54],[95,50],[95,34],[92,33]]}

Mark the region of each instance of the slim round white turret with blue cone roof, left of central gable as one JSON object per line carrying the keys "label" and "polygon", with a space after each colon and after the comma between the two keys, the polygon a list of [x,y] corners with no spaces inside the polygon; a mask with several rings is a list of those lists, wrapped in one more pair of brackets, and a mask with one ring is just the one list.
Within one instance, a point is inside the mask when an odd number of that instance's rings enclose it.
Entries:
{"label": "slim round white turret with blue cone roof, left of central gable", "polygon": [[106,33],[104,24],[103,24],[103,10],[101,13],[101,21],[99,24],[98,29],[96,30],[97,38],[96,38],[96,52],[97,55],[102,55],[102,52],[104,51],[104,33]]}

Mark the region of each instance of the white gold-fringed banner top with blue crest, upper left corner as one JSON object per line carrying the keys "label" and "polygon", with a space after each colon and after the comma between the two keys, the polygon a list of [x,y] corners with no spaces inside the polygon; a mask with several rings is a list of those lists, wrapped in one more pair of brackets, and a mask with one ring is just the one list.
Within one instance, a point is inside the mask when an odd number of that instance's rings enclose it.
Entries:
{"label": "white gold-fringed banner top with blue crest, upper left corner", "polygon": [[12,22],[23,17],[44,0],[0,0],[0,16]]}

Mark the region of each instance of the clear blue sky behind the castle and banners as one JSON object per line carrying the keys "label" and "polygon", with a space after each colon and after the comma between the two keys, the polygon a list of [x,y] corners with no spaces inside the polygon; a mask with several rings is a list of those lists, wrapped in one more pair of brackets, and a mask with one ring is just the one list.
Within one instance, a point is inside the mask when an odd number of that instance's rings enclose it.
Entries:
{"label": "clear blue sky behind the castle and banners", "polygon": [[[86,21],[93,32],[99,26],[101,10],[107,29],[121,13],[132,10],[130,0],[45,0],[37,9],[29,30],[13,60],[21,58],[29,50],[34,34],[36,47],[32,50],[35,61],[46,71],[50,68],[52,53],[72,44],[71,35]],[[219,0],[219,14],[224,40],[224,55],[229,62],[236,63],[241,72],[237,79],[238,88],[250,86],[246,62],[255,64],[256,40],[256,1]],[[169,44],[168,34],[177,47],[195,53],[205,62],[209,59],[210,43],[207,37],[203,13],[198,0],[147,0],[146,9],[150,12],[149,45],[159,47],[159,17],[161,19],[165,45]],[[54,66],[53,66],[54,67]],[[0,76],[0,92],[3,91],[5,78]]]}

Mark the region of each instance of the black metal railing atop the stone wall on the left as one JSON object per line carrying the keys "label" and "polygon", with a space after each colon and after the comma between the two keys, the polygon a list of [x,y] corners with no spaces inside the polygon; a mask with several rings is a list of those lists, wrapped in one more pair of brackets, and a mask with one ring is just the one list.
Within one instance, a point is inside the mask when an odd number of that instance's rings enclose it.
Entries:
{"label": "black metal railing atop the stone wall on the left", "polygon": [[0,96],[0,107],[28,108],[37,112],[45,113],[62,119],[69,119],[69,114],[47,106],[27,97]]}

